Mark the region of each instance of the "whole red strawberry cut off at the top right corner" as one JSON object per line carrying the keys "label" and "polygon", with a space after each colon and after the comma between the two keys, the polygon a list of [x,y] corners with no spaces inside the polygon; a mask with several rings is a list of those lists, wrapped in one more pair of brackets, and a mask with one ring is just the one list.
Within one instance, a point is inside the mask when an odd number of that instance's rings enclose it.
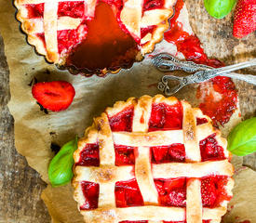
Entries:
{"label": "whole red strawberry cut off at the top right corner", "polygon": [[234,16],[234,36],[242,38],[255,30],[256,0],[238,0]]}

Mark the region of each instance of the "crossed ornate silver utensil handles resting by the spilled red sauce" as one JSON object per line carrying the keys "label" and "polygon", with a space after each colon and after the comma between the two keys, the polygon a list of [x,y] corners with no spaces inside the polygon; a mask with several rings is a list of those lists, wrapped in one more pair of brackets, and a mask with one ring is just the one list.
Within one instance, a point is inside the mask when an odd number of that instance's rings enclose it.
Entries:
{"label": "crossed ornate silver utensil handles resting by the spilled red sauce", "polygon": [[[161,82],[158,83],[158,89],[168,96],[175,94],[185,85],[205,82],[219,75],[236,78],[249,82],[252,85],[256,85],[255,75],[239,74],[234,72],[239,69],[255,66],[256,59],[251,59],[246,62],[241,62],[217,69],[202,64],[196,64],[192,61],[182,61],[180,59],[174,58],[167,53],[161,53],[156,55],[154,59],[152,59],[152,62],[155,65],[156,69],[160,72],[172,72],[177,70],[181,70],[183,72],[195,72],[194,74],[184,77],[179,77],[175,75],[163,76]],[[168,80],[178,81],[179,85],[169,88]]]}

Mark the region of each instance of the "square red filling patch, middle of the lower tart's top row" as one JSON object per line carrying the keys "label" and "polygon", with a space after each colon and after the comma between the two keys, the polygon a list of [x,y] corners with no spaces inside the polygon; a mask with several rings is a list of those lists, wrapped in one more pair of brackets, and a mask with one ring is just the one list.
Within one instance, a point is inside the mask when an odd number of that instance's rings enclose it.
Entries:
{"label": "square red filling patch, middle of the lower tart's top row", "polygon": [[148,131],[152,132],[160,129],[182,129],[182,106],[180,102],[172,106],[165,103],[152,105]]}

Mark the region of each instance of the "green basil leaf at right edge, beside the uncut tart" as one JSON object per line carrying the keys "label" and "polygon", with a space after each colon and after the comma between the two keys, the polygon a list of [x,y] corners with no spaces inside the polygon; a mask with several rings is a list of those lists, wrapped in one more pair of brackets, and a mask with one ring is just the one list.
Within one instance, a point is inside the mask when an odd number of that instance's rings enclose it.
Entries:
{"label": "green basil leaf at right edge, beside the uncut tart", "polygon": [[237,156],[256,151],[256,117],[236,125],[228,135],[227,141],[227,149]]}

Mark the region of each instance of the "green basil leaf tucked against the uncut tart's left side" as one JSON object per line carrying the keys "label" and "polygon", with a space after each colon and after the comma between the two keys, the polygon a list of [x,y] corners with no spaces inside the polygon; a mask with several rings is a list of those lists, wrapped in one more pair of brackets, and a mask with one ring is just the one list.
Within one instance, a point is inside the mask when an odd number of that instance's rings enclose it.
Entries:
{"label": "green basil leaf tucked against the uncut tart's left side", "polygon": [[61,147],[61,151],[51,160],[48,167],[48,177],[53,187],[67,184],[73,174],[73,153],[77,149],[77,137]]}

